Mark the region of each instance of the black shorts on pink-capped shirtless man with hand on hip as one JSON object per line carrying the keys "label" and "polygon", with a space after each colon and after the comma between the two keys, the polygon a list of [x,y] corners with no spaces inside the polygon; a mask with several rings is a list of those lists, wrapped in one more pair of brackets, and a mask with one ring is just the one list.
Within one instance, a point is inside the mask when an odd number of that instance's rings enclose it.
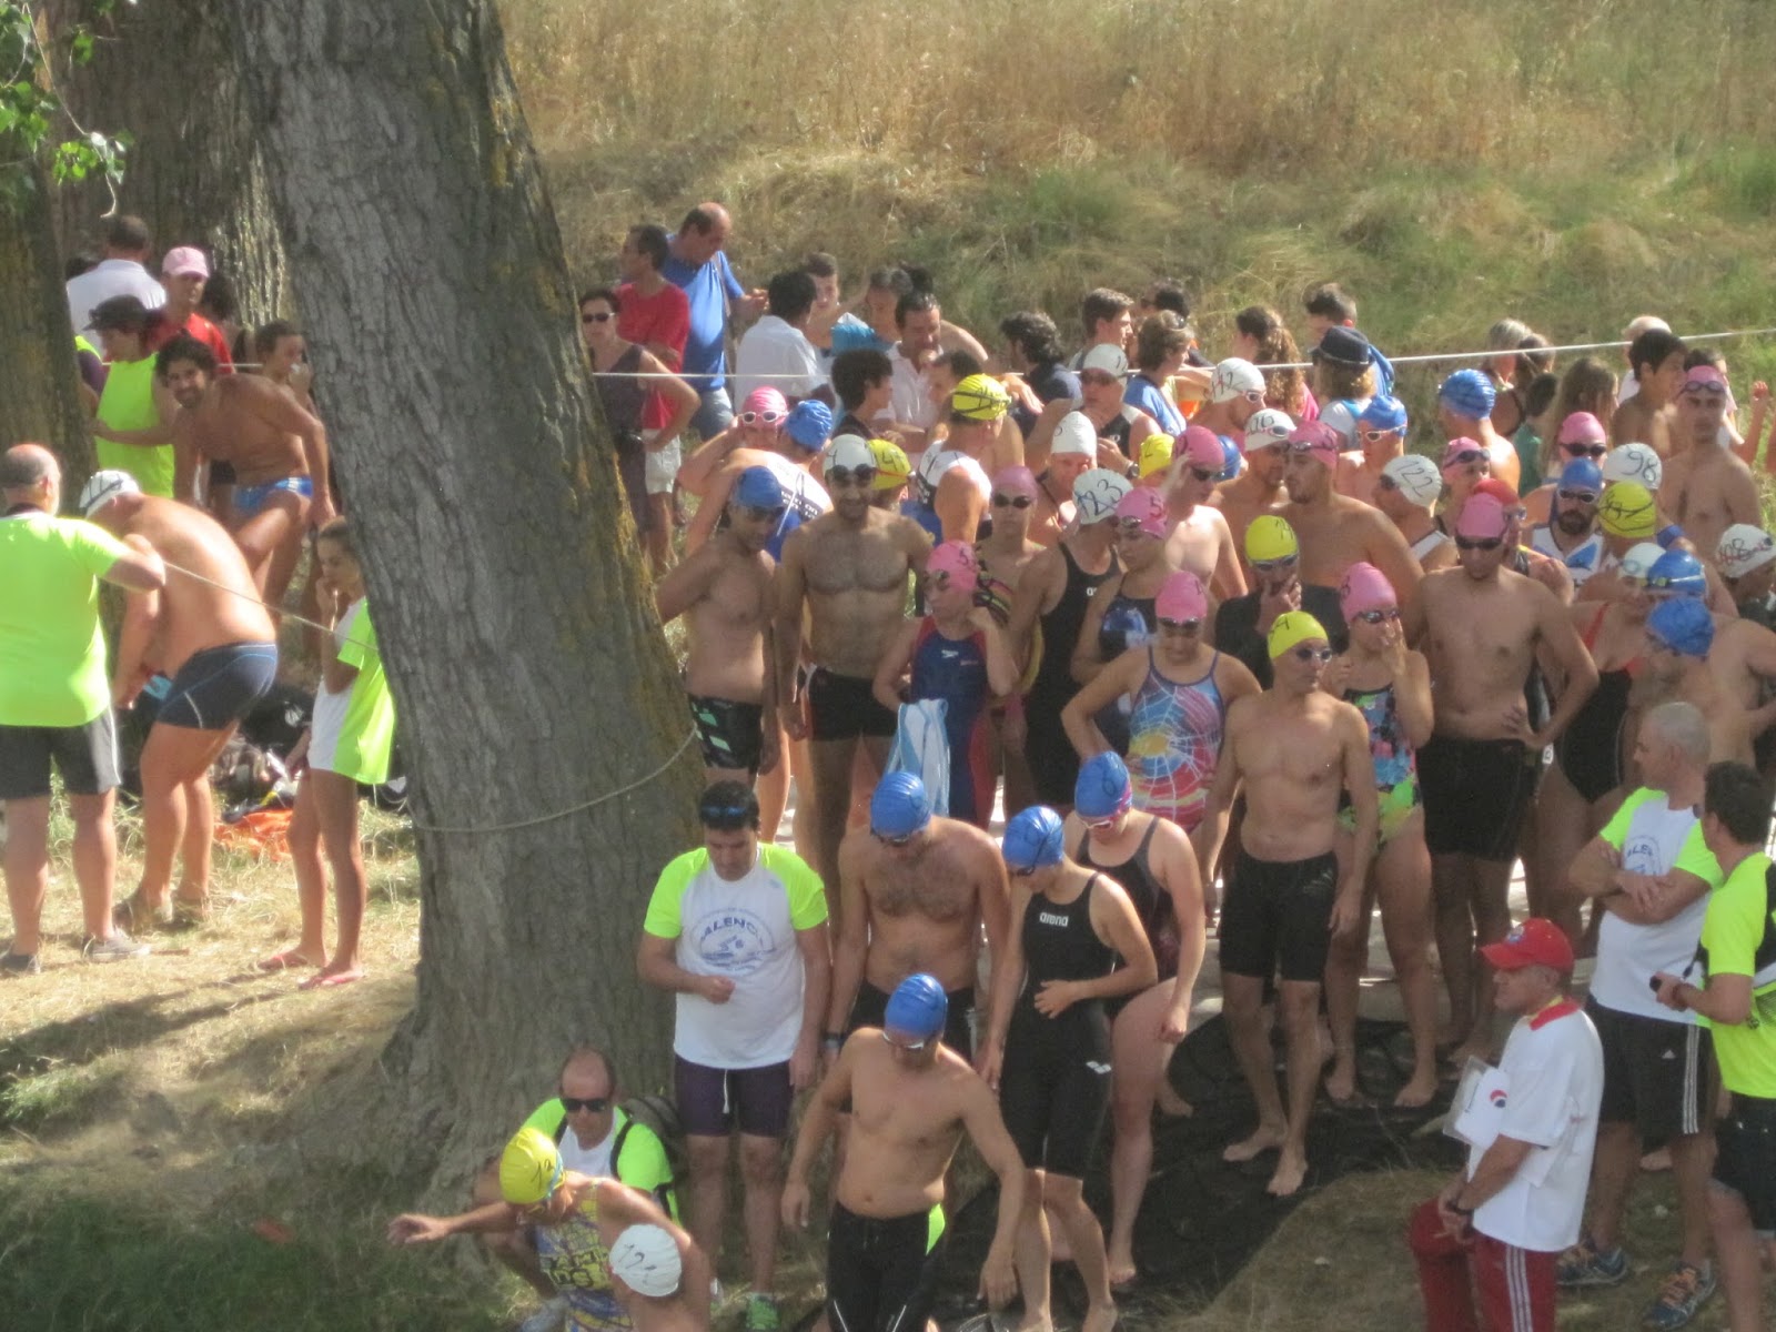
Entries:
{"label": "black shorts on pink-capped shirtless man with hand on hip", "polygon": [[1520,741],[1431,735],[1419,749],[1424,845],[1433,856],[1513,860],[1540,764]]}

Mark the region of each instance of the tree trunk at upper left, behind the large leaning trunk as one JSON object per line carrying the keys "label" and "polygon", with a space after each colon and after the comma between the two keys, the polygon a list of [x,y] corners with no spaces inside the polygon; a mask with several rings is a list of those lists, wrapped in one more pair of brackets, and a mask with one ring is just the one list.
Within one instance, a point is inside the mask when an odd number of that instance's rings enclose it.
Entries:
{"label": "tree trunk at upper left, behind the large leaning trunk", "polygon": [[[52,0],[52,30],[91,18],[89,0]],[[98,21],[85,66],[57,69],[75,117],[130,131],[121,210],[140,215],[158,250],[202,245],[250,329],[295,314],[289,263],[272,213],[261,139],[247,115],[233,11],[197,0],[117,5]],[[66,64],[66,62],[64,62]],[[57,194],[62,249],[98,250],[112,195],[99,179]]]}

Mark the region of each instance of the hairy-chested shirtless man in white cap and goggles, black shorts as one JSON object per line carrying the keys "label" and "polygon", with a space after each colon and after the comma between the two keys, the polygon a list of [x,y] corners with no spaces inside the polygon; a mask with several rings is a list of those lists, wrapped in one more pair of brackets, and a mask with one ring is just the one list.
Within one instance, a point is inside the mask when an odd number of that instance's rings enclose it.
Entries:
{"label": "hairy-chested shirtless man in white cap and goggles, black shorts", "polygon": [[[879,773],[895,732],[895,714],[872,693],[876,662],[900,630],[908,574],[922,574],[931,554],[924,527],[870,504],[874,480],[868,444],[836,439],[826,456],[833,511],[790,533],[778,572],[776,696],[790,739],[810,741],[815,868],[829,884],[840,881],[858,742]],[[806,684],[797,675],[805,641]]]}

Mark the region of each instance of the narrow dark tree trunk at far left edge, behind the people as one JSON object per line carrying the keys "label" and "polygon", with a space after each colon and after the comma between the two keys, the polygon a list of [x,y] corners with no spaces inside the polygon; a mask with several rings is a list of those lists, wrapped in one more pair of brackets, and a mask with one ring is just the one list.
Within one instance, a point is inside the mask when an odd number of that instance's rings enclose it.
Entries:
{"label": "narrow dark tree trunk at far left edge, behind the people", "polygon": [[[0,149],[9,144],[0,137]],[[92,471],[92,437],[50,229],[50,183],[37,163],[16,172],[16,188],[0,194],[0,297],[7,309],[0,320],[0,449],[27,439],[48,444],[62,458],[69,494],[78,494]]]}

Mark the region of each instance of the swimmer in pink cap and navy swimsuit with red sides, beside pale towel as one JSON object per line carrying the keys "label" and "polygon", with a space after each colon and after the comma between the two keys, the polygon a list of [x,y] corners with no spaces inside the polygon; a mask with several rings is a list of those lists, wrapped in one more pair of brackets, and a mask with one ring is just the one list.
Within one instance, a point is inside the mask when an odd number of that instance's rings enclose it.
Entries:
{"label": "swimmer in pink cap and navy swimsuit with red sides, beside pale towel", "polygon": [[[986,828],[993,817],[993,730],[987,702],[1018,686],[1018,661],[1005,632],[975,604],[980,567],[973,547],[943,542],[925,563],[931,614],[909,620],[876,668],[876,700],[895,710],[924,698],[945,702],[952,819]],[[911,678],[909,678],[911,670]]]}

